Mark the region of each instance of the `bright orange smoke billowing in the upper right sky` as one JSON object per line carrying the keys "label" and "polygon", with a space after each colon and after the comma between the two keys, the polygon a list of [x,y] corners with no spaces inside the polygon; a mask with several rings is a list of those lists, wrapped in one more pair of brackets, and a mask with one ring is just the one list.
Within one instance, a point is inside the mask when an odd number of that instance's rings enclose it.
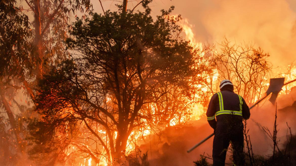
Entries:
{"label": "bright orange smoke billowing in the upper right sky", "polygon": [[270,53],[275,67],[295,60],[296,17],[286,1],[215,3],[218,7],[205,11],[207,18],[201,20],[212,42],[223,40],[223,35],[238,43],[254,42]]}

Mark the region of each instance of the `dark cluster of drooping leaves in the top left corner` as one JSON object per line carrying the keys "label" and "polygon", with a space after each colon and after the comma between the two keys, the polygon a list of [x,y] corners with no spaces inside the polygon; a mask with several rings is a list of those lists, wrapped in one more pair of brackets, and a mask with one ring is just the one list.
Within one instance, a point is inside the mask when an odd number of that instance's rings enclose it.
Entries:
{"label": "dark cluster of drooping leaves in the top left corner", "polygon": [[15,0],[1,1],[0,20],[0,75],[21,75],[31,66],[28,16],[16,7]]}

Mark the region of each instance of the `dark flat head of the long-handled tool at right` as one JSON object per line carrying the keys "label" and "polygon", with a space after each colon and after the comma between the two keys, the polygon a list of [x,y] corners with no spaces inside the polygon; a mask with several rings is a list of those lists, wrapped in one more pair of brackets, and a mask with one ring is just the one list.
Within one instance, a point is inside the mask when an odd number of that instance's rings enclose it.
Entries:
{"label": "dark flat head of the long-handled tool at right", "polygon": [[281,91],[281,88],[284,86],[284,81],[285,81],[285,78],[270,79],[270,84],[269,84],[266,94],[269,95],[270,93],[272,93],[271,97],[269,99],[269,101],[272,104],[275,103],[277,95]]}

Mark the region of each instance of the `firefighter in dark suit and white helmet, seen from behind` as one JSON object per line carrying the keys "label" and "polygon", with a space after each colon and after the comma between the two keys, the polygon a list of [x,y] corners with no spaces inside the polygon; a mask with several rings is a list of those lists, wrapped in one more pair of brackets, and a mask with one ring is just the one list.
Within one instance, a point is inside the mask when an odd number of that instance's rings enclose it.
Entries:
{"label": "firefighter in dark suit and white helmet, seen from behind", "polygon": [[233,162],[244,165],[243,119],[250,118],[250,109],[244,99],[233,92],[231,81],[220,84],[221,92],[215,93],[207,109],[207,121],[214,129],[213,166],[225,165],[226,152],[231,144]]}

